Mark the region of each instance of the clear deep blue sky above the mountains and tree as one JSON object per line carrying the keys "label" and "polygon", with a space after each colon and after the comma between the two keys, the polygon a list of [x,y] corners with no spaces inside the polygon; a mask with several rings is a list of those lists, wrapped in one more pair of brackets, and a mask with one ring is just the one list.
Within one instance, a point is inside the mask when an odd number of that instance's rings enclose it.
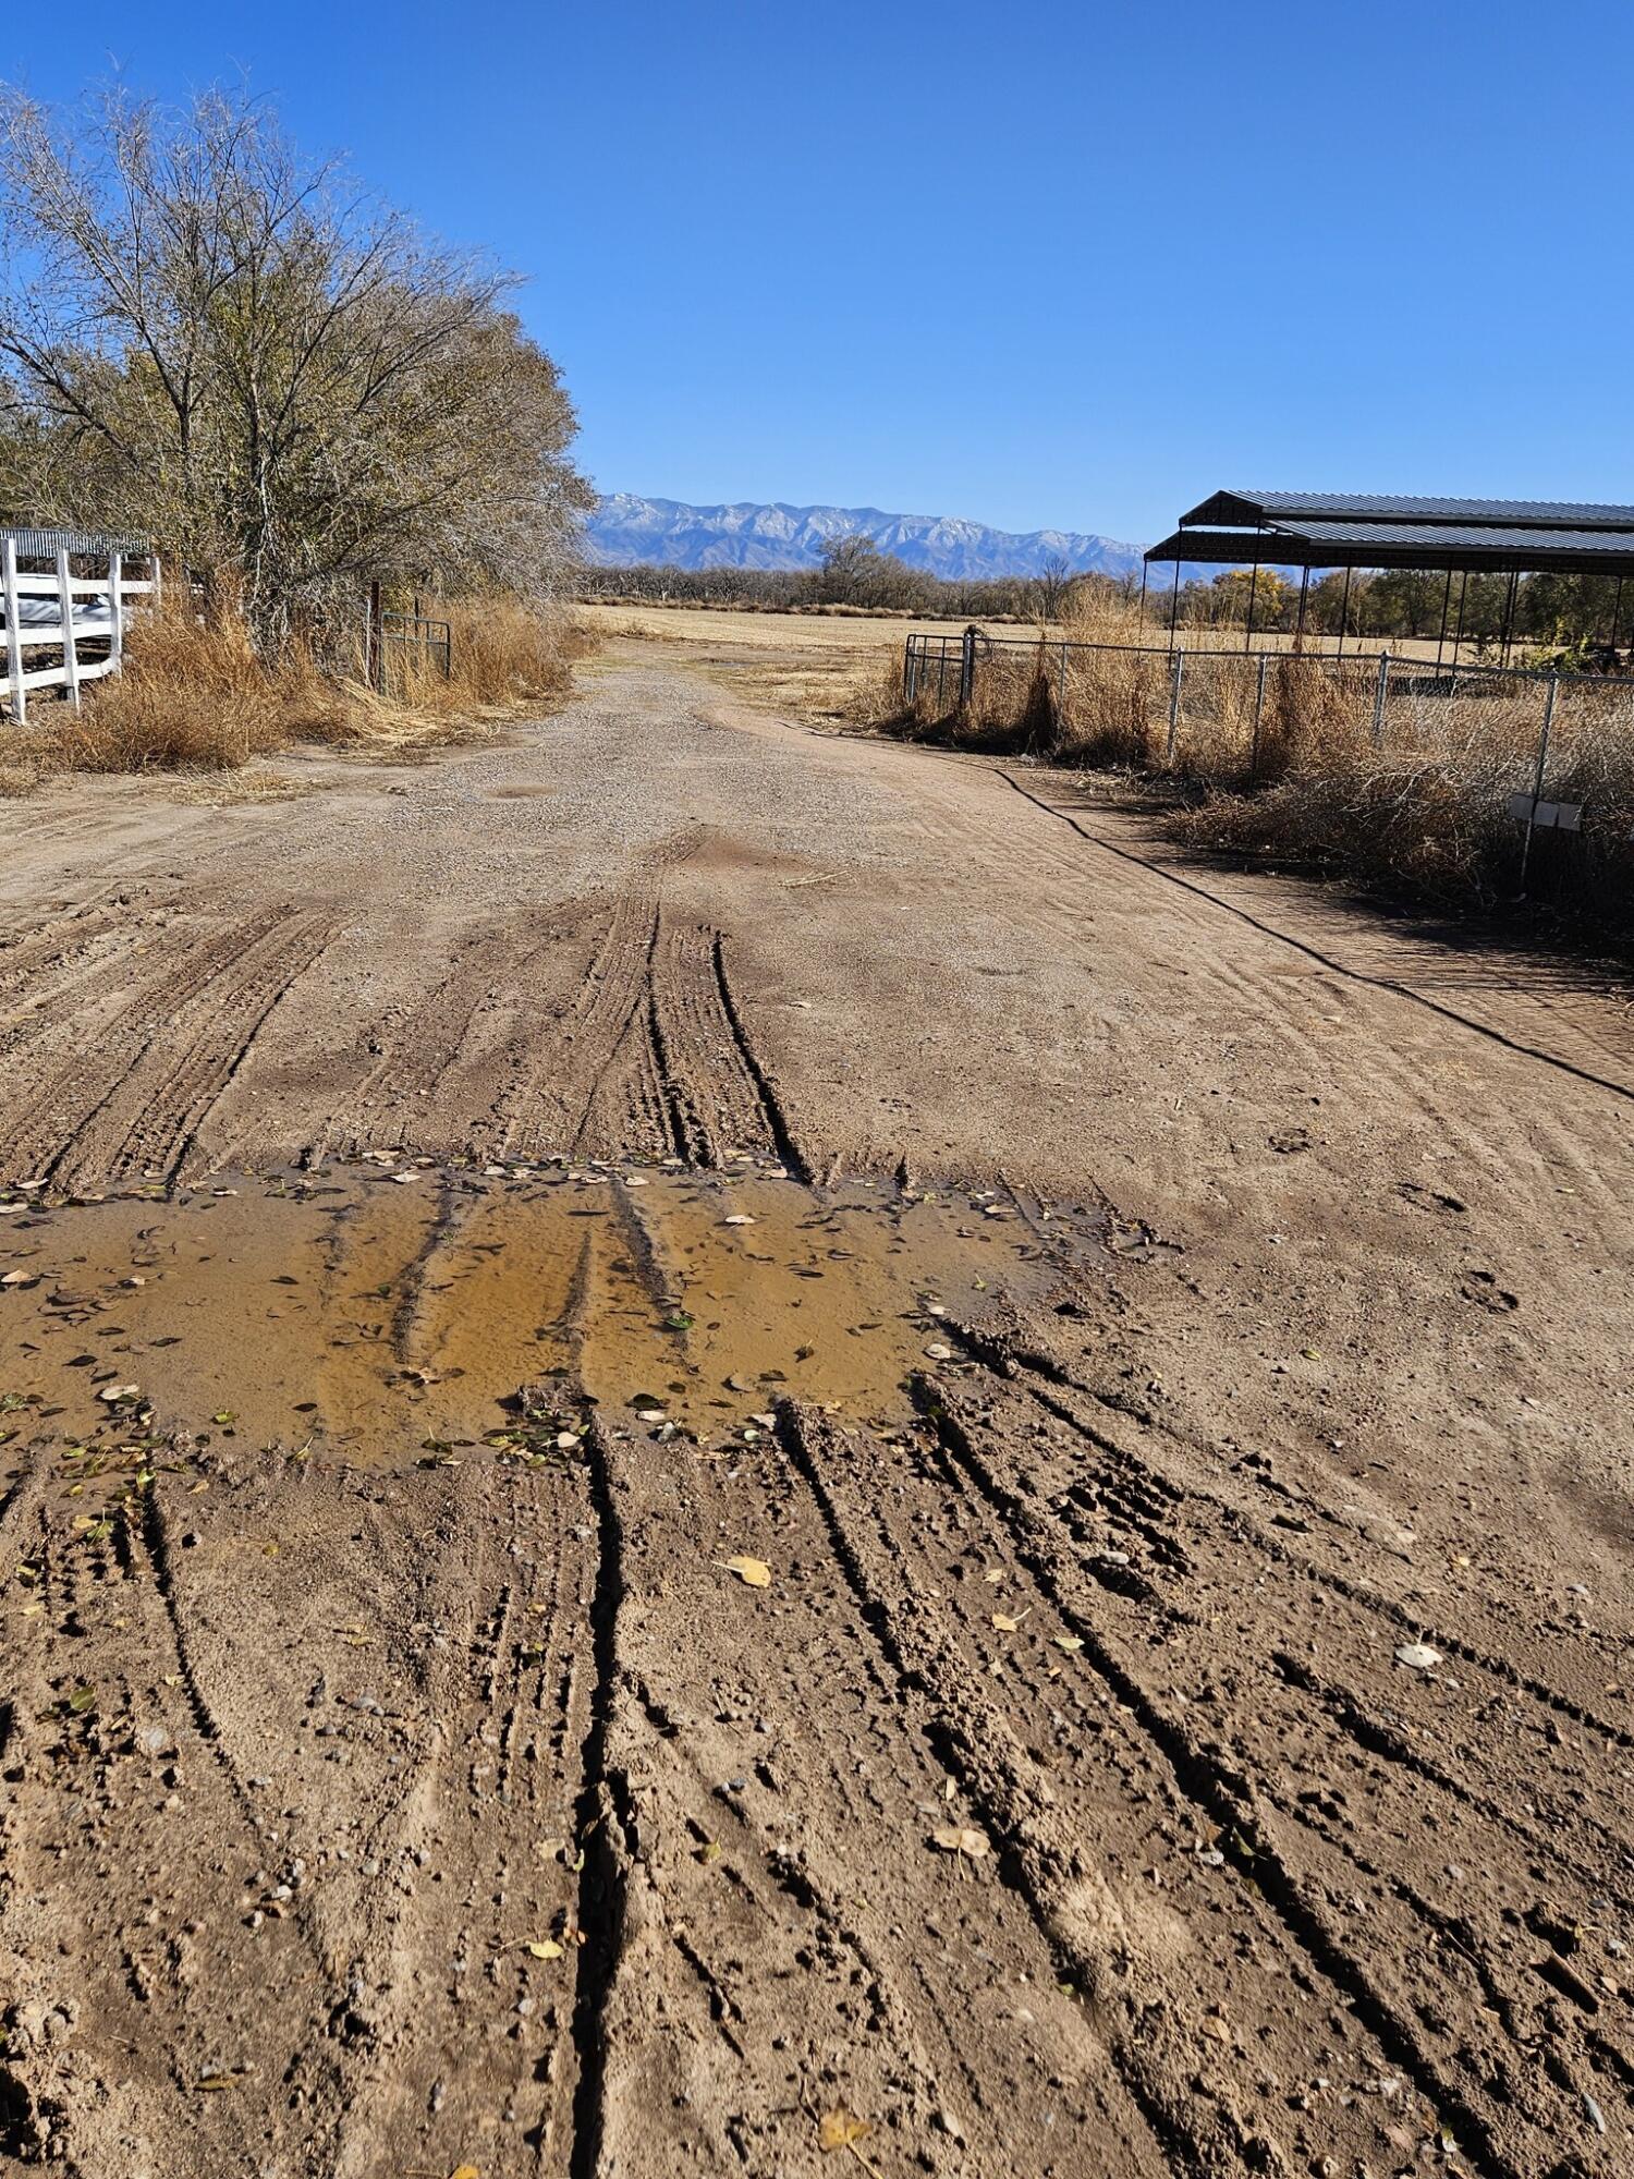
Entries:
{"label": "clear deep blue sky above the mountains and tree", "polygon": [[1634,499],[1627,0],[4,11],[37,96],[113,61],[525,272],[603,490]]}

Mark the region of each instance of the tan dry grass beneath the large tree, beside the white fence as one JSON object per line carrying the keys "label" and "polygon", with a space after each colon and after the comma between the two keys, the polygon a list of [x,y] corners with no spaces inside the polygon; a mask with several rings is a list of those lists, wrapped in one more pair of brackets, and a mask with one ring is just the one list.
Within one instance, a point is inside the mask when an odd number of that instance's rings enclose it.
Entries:
{"label": "tan dry grass beneath the large tree, beside the white fence", "polygon": [[[444,606],[451,675],[429,654],[388,649],[388,693],[362,678],[362,654],[322,671],[303,643],[266,665],[229,606],[198,614],[190,597],[142,614],[124,669],[31,726],[0,793],[46,771],[231,771],[292,743],[403,747],[460,721],[516,717],[556,702],[586,638],[508,599]],[[41,706],[44,708],[44,706]],[[11,778],[15,774],[15,778]]]}

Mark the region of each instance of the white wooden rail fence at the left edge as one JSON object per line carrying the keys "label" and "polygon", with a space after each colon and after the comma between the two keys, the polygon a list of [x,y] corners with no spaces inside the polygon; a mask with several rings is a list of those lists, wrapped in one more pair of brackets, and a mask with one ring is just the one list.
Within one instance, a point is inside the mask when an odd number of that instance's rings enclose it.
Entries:
{"label": "white wooden rail fence at the left edge", "polygon": [[[74,564],[98,571],[76,575]],[[137,580],[126,567],[148,573]],[[78,710],[85,682],[120,671],[131,601],[139,597],[159,599],[159,556],[144,545],[72,529],[0,529],[0,699],[11,717],[26,721],[31,689],[65,689]],[[31,667],[28,652],[61,656]]]}

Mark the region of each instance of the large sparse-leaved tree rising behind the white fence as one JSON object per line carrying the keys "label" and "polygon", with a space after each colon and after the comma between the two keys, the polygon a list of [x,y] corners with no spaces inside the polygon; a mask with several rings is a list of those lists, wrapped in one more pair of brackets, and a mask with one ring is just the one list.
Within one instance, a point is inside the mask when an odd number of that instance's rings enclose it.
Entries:
{"label": "large sparse-leaved tree rising behind the white fence", "polygon": [[231,577],[277,643],[359,577],[551,586],[590,492],[512,277],[248,96],[0,94],[0,490]]}

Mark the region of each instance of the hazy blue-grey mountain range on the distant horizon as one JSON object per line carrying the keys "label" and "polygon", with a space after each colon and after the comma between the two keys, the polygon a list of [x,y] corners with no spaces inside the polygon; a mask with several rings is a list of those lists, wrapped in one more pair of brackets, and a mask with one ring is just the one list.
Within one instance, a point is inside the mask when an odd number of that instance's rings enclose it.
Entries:
{"label": "hazy blue-grey mountain range on the distant horizon", "polygon": [[584,558],[597,567],[817,567],[824,547],[865,532],[880,551],[954,582],[1037,575],[1050,560],[1074,573],[1139,569],[1139,545],[1078,529],[989,529],[956,514],[887,514],[880,508],[789,508],[734,501],[688,508],[680,499],[610,492],[584,525]]}

